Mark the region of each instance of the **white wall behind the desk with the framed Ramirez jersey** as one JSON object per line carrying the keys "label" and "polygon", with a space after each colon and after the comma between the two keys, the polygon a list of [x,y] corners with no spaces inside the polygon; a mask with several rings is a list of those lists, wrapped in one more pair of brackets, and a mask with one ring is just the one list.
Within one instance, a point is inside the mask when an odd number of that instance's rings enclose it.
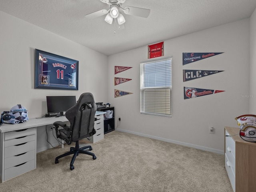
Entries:
{"label": "white wall behind the desk with the framed Ramirez jersey", "polygon": [[[75,95],[78,100],[84,92],[91,92],[96,102],[106,103],[106,55],[1,11],[0,26],[1,113],[22,104],[28,110],[29,118],[42,117],[47,112],[46,96]],[[34,89],[34,49],[78,60],[78,91]],[[37,152],[51,148],[46,142],[45,130],[44,126],[37,128]],[[47,130],[48,141],[57,146],[49,126]]]}

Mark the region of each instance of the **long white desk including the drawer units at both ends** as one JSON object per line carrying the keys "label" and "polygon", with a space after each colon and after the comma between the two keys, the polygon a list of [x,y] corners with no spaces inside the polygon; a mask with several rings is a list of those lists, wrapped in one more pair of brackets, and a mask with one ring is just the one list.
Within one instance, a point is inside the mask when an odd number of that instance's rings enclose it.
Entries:
{"label": "long white desk including the drawer units at both ends", "polygon": [[[95,116],[99,122],[103,122],[105,113],[96,111]],[[56,121],[66,122],[68,120],[65,116],[34,118],[26,123],[0,126],[0,177],[2,182],[36,168],[36,129]],[[95,128],[99,127],[98,124],[98,122],[95,124]],[[98,130],[98,138],[102,139],[104,132],[99,134],[100,130],[104,130],[104,127]],[[97,130],[95,137],[97,138]]]}

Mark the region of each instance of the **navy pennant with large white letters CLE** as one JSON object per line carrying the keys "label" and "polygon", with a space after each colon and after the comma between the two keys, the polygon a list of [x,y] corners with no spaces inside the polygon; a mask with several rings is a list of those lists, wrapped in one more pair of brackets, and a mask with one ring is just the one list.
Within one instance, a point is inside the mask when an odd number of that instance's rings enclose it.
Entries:
{"label": "navy pennant with large white letters CLE", "polygon": [[197,79],[200,77],[209,76],[222,71],[209,71],[209,70],[183,70],[183,82]]}

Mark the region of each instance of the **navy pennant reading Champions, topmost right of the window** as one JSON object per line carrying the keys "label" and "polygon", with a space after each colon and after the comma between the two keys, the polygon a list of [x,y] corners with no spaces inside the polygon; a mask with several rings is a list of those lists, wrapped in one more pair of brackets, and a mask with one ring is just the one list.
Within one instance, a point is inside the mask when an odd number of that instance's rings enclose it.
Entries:
{"label": "navy pennant reading Champions, topmost right of the window", "polygon": [[212,57],[212,56],[215,56],[218,54],[222,54],[222,53],[220,53],[220,52],[218,52],[218,53],[183,53],[182,65],[186,65],[186,64],[189,64],[189,63],[192,63],[192,62],[195,62],[198,60],[202,60],[202,59],[205,59],[208,57]]}

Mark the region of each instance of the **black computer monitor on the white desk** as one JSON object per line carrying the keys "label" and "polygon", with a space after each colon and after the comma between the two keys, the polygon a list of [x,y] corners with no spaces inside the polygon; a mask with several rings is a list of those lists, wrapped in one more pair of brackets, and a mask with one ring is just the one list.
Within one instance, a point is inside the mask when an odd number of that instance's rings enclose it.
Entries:
{"label": "black computer monitor on the white desk", "polygon": [[46,96],[47,113],[57,113],[63,116],[63,112],[76,104],[76,96]]}

